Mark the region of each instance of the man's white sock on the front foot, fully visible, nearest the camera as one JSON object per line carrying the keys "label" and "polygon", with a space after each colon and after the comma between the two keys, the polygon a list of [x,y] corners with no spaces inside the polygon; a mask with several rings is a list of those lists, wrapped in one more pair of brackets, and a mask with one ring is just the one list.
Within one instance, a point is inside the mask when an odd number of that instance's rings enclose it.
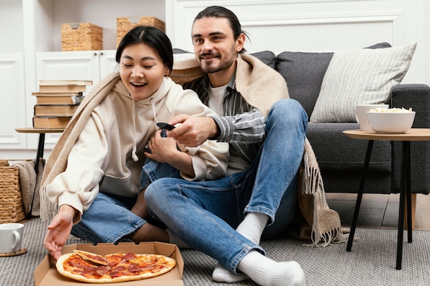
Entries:
{"label": "man's white sock on the front foot, fully visible, nearest the camera", "polygon": [[261,286],[305,286],[302,267],[296,261],[276,262],[257,250],[251,250],[238,264],[244,272]]}

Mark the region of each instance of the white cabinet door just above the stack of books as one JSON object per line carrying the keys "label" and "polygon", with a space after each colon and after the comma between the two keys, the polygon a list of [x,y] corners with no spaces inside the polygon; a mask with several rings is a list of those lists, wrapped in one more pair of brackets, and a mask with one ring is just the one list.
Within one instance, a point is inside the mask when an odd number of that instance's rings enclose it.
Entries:
{"label": "white cabinet door just above the stack of books", "polygon": [[[36,53],[39,80],[92,80],[100,82],[100,51]],[[91,86],[87,86],[87,92]]]}

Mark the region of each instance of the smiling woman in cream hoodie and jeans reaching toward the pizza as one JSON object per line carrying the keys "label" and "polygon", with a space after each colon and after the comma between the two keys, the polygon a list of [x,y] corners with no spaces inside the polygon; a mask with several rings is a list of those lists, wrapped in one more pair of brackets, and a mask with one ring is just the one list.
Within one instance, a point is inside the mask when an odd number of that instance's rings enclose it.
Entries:
{"label": "smiling woman in cream hoodie and jeans reaching toward the pizza", "polygon": [[179,171],[172,176],[186,180],[226,174],[227,143],[183,147],[157,130],[157,122],[175,115],[214,115],[194,92],[167,77],[173,54],[166,34],[135,27],[122,38],[116,60],[119,76],[113,73],[94,86],[45,167],[42,218],[58,205],[44,241],[54,259],[70,233],[93,242],[169,242],[166,230],[142,218],[139,177],[146,158],[172,165]]}

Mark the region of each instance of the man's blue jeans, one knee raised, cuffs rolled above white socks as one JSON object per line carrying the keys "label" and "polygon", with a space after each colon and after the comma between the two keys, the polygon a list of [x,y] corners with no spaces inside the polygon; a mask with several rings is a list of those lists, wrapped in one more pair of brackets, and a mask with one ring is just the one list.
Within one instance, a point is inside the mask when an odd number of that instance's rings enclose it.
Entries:
{"label": "man's blue jeans, one knee raised, cuffs rolled above white socks", "polygon": [[269,216],[265,236],[277,235],[293,222],[307,121],[295,100],[277,102],[267,117],[260,154],[247,171],[205,182],[156,180],[145,191],[150,214],[189,246],[236,272],[250,250],[264,254],[235,230],[245,213]]}

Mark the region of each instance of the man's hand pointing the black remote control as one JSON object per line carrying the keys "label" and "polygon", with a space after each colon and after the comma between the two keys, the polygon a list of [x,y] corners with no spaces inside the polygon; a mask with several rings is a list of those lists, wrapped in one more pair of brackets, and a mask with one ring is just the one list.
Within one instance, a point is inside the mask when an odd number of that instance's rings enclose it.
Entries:
{"label": "man's hand pointing the black remote control", "polygon": [[207,139],[216,138],[219,135],[218,126],[212,117],[178,115],[169,122],[170,125],[177,123],[181,125],[167,131],[166,134],[188,147],[197,147]]}

